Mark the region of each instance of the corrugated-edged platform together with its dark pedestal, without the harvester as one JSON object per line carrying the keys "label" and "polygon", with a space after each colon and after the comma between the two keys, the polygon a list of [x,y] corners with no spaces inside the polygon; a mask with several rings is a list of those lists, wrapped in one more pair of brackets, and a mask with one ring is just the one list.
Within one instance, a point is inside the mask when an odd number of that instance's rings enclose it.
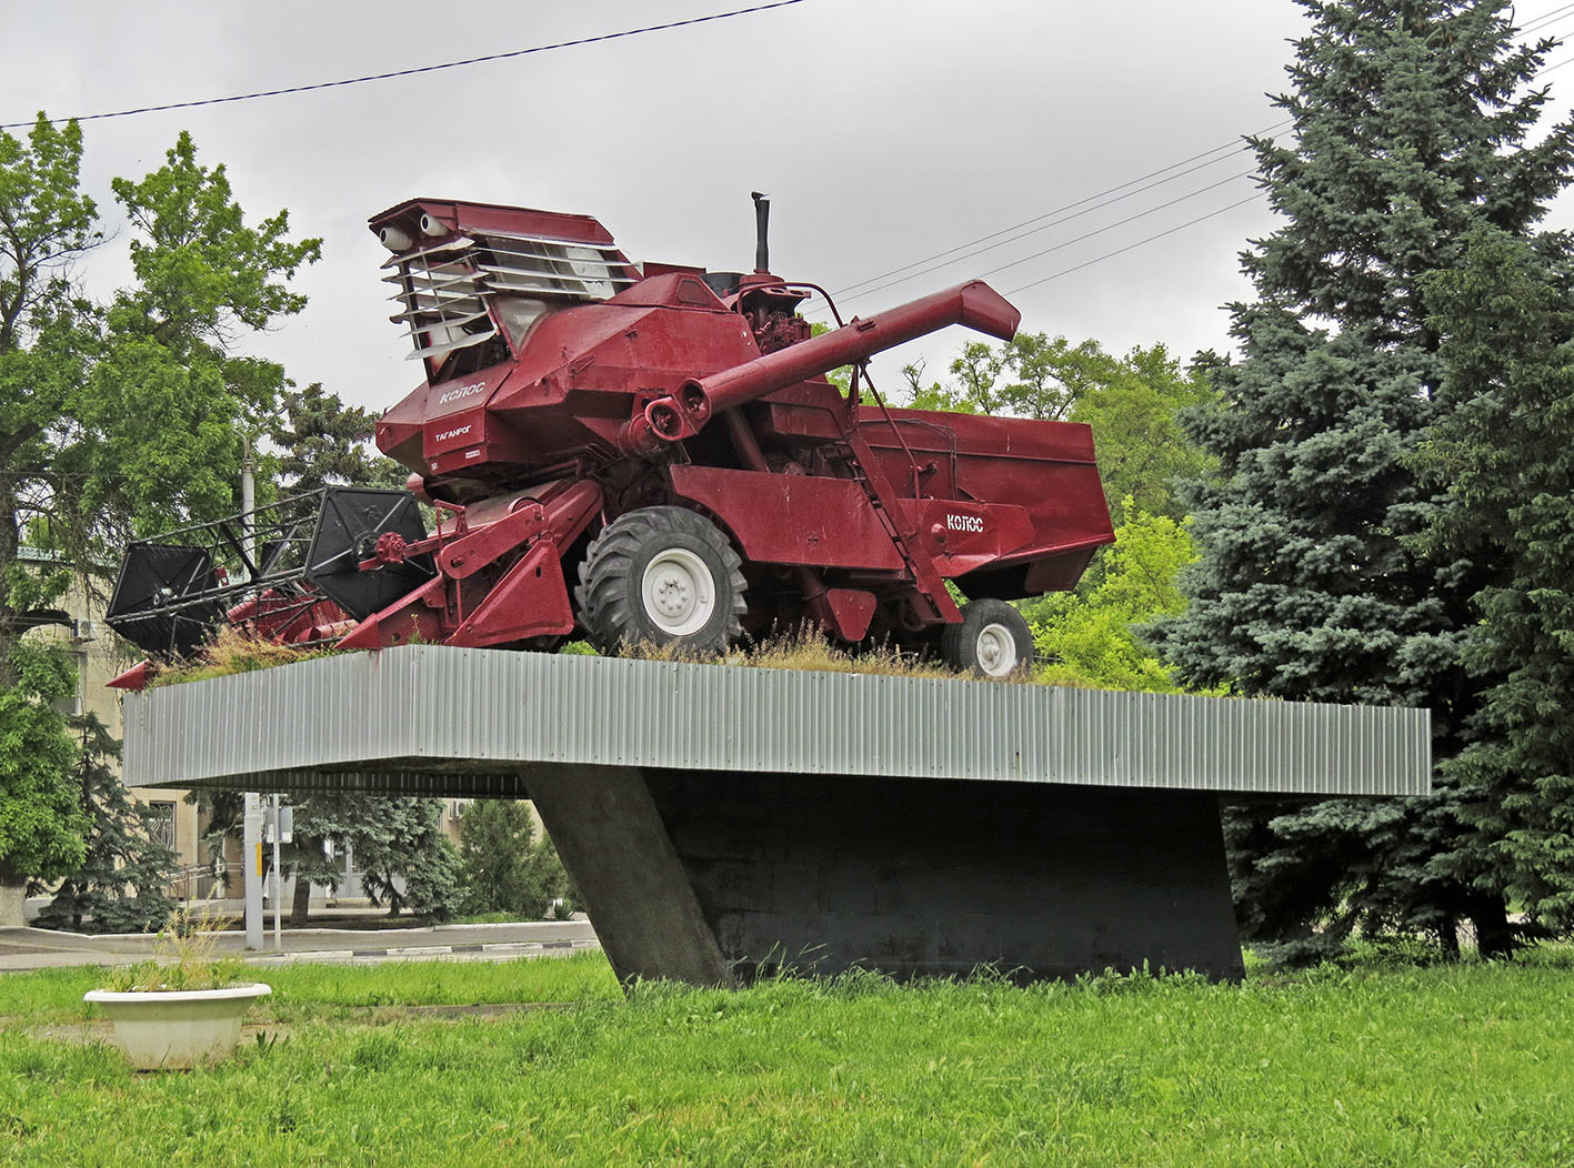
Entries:
{"label": "corrugated-edged platform together with its dark pedestal, without the harvester", "polygon": [[1236,978],[1218,795],[1424,795],[1431,719],[409,645],[129,696],[124,776],[532,798],[625,979]]}

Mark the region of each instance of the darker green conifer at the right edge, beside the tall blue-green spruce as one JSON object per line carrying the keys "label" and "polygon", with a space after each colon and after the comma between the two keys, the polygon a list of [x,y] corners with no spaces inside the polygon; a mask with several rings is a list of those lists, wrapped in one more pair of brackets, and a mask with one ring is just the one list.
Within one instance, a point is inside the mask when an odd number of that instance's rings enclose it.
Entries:
{"label": "darker green conifer at the right edge, beside the tall blue-green spruce", "polygon": [[1424,543],[1497,565],[1464,644],[1486,693],[1443,770],[1481,878],[1549,930],[1574,927],[1574,296],[1558,260],[1481,231],[1432,280],[1461,406],[1417,458],[1443,490]]}

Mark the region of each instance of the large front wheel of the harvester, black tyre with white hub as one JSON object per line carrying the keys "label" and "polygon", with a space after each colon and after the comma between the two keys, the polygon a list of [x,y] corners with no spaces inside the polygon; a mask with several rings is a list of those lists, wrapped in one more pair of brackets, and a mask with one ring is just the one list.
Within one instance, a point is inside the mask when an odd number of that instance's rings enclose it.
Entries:
{"label": "large front wheel of the harvester, black tyre with white hub", "polygon": [[590,641],[721,653],[743,634],[743,571],[716,524],[682,507],[620,515],[590,541],[576,597]]}

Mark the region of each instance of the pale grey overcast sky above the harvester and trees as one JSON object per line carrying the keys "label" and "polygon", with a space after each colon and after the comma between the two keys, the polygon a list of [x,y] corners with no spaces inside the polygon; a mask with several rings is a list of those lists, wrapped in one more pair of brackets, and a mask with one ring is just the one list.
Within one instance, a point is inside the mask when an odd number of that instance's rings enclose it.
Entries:
{"label": "pale grey overcast sky above the harvester and trees", "polygon": [[[748,0],[6,6],[0,121],[16,123],[439,65]],[[1522,25],[1544,16],[1541,33],[1574,31],[1571,5],[1520,6]],[[863,283],[837,296],[844,313],[1012,264],[987,279],[1025,329],[1116,351],[1163,342],[1185,357],[1228,345],[1220,305],[1247,291],[1237,252],[1272,228],[1239,176],[1250,156],[1221,150],[1121,201],[1081,200],[1277,123],[1264,94],[1284,88],[1288,41],[1303,31],[1291,0],[803,0],[460,69],[85,121],[85,184],[113,225],[109,178],[157,167],[189,129],[203,161],[227,164],[250,219],[288,208],[297,235],[324,241],[299,279],[310,305],[250,351],[375,409],[422,375],[387,321],[387,253],[365,220],[411,197],[592,214],[636,261],[746,269],[749,190],[765,190],[773,269],[833,293]],[[1550,60],[1565,57],[1574,49]],[[1574,71],[1550,80],[1565,77]],[[874,290],[892,269],[1034,227]],[[94,290],[126,279],[123,252],[124,236],[90,261]],[[941,373],[962,340],[948,329],[878,359],[877,384],[896,387],[914,359]]]}

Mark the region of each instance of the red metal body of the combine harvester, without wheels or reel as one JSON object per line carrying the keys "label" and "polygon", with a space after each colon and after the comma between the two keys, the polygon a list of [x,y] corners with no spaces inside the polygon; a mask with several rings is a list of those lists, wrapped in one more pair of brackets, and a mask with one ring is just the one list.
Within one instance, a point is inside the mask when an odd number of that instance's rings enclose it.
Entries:
{"label": "red metal body of the combine harvester, without wheels or reel", "polygon": [[414,548],[438,575],[345,645],[568,636],[589,538],[652,505],[727,534],[746,630],[807,617],[848,641],[959,620],[946,579],[1070,587],[1113,538],[1084,427],[885,409],[825,379],[948,324],[1012,337],[1017,310],[981,282],[809,338],[807,293],[642,275],[584,216],[414,200],[370,224],[428,375],[376,441],[445,515]]}

